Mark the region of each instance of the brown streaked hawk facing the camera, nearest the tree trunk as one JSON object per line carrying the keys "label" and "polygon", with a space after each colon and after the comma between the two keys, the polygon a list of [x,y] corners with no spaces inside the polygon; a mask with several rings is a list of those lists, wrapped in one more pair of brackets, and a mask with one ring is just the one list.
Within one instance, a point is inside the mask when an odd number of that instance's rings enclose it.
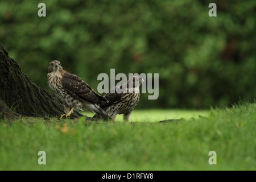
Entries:
{"label": "brown streaked hawk facing the camera, nearest the tree trunk", "polygon": [[86,109],[97,113],[103,119],[109,118],[100,107],[107,104],[108,100],[96,93],[80,77],[65,71],[60,61],[54,60],[49,64],[47,78],[49,88],[64,106],[66,114],[60,118],[69,117],[74,109]]}

